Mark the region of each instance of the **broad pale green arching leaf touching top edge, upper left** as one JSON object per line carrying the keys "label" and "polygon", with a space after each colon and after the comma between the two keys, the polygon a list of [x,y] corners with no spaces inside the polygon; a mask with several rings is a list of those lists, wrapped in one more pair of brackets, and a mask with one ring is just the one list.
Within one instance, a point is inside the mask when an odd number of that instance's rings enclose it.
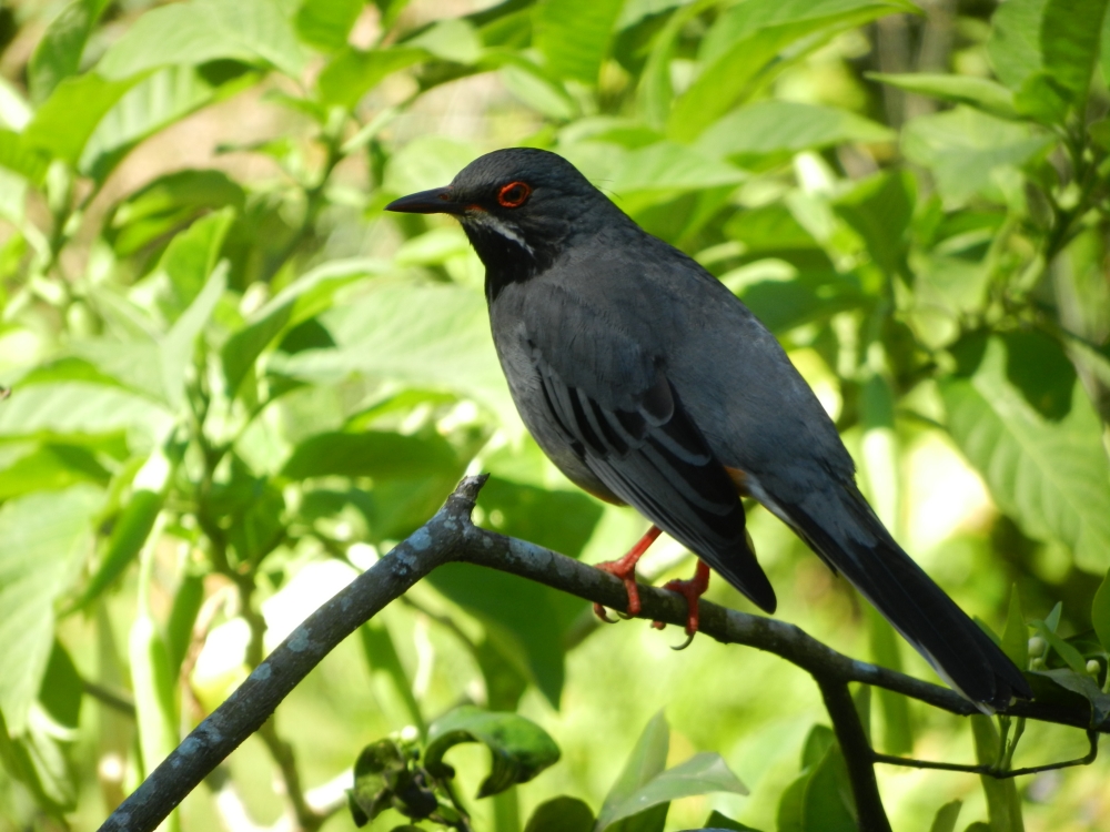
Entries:
{"label": "broad pale green arching leaf touching top edge, upper left", "polygon": [[142,14],[95,69],[114,80],[170,64],[226,59],[272,65],[294,79],[305,64],[292,23],[276,0],[192,0]]}

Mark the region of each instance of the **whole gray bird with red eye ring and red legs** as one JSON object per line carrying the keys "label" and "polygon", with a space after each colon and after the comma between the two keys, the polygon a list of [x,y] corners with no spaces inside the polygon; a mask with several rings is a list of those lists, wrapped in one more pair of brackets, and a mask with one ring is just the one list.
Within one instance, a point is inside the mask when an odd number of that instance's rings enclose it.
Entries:
{"label": "whole gray bird with red eye ring and red legs", "polygon": [[[659,530],[761,610],[775,590],[740,497],[789,526],[925,657],[991,713],[1032,691],[991,638],[905,552],[775,336],[695,260],[644,231],[561,155],[493,151],[387,211],[448,214],[485,266],[494,346],[524,425],[584,490],[653,524],[605,565],[638,612],[635,561]],[[690,636],[693,633],[690,632]]]}

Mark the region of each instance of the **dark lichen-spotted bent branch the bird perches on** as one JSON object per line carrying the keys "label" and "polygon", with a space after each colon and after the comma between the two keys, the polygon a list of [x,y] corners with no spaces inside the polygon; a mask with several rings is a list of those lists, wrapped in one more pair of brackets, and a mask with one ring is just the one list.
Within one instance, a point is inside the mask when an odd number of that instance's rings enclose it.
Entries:
{"label": "dark lichen-spotted bent branch the bird perches on", "polygon": [[[431,520],[293,630],[120,804],[104,821],[101,832],[154,830],[206,774],[262,727],[324,656],[442,564],[476,564],[606,607],[625,607],[624,585],[612,575],[534,544],[474,526],[471,511],[485,480],[485,476],[464,478]],[[679,596],[642,587],[640,600],[639,618],[677,626],[686,623],[686,602]],[[780,656],[814,676],[821,684],[823,694],[826,687],[833,691],[834,686],[855,681],[894,690],[952,713],[979,712],[947,688],[850,659],[783,621],[727,610],[703,600],[700,632],[723,643],[747,645]],[[833,698],[838,701],[836,694]],[[1018,702],[1008,712],[1084,730],[1092,728],[1089,712],[1081,709]],[[850,727],[847,730],[850,731]],[[1110,732],[1110,719],[1094,726],[1093,730]],[[842,747],[856,742],[851,738],[840,738],[840,729],[837,733]],[[846,759],[849,753],[854,753],[854,745],[845,751]],[[874,779],[874,772],[871,777]],[[857,802],[860,800],[857,793]]]}

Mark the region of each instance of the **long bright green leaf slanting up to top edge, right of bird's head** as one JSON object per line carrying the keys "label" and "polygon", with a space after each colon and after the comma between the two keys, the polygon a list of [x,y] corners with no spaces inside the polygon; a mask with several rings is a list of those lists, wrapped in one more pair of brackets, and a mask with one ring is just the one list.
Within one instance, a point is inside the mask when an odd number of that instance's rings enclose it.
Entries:
{"label": "long bright green leaf slanting up to top edge, right of bird's head", "polygon": [[737,3],[717,19],[703,41],[702,73],[675,102],[667,123],[668,135],[677,141],[695,139],[738,100],[787,65],[789,59],[780,53],[803,38],[807,38],[806,49],[813,49],[839,32],[885,14],[914,11],[917,7],[905,0]]}

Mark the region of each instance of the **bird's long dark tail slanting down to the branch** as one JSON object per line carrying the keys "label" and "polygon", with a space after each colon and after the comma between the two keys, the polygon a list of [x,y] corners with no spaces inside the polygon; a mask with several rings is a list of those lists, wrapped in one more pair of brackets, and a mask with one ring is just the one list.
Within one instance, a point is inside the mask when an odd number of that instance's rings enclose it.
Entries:
{"label": "bird's long dark tail slanting down to the branch", "polygon": [[985,711],[1032,699],[1021,672],[895,542],[855,486],[781,509],[806,542],[909,641],[952,688]]}

